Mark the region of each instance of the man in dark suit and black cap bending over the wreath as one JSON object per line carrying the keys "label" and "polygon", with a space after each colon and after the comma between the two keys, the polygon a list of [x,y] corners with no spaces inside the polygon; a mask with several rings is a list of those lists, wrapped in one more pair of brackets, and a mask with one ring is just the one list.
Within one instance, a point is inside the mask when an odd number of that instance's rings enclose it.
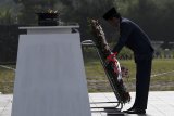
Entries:
{"label": "man in dark suit and black cap bending over the wreath", "polygon": [[153,48],[149,37],[134,22],[121,17],[120,13],[112,8],[103,18],[114,27],[120,28],[120,39],[112,52],[117,54],[126,46],[134,52],[136,63],[136,99],[132,108],[124,111],[128,114],[146,114],[149,83],[151,75],[151,62]]}

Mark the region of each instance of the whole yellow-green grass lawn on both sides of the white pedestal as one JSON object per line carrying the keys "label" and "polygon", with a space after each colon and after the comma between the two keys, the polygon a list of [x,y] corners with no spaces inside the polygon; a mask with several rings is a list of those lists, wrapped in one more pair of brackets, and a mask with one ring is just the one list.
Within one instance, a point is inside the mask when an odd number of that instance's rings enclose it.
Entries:
{"label": "whole yellow-green grass lawn on both sides of the white pedestal", "polygon": [[[135,90],[135,63],[133,60],[120,61],[121,65],[128,67],[129,78],[124,79],[129,91]],[[11,67],[11,66],[10,66]],[[85,60],[85,70],[87,75],[89,92],[112,91],[104,75],[104,70],[97,60]],[[153,60],[152,75],[174,70],[174,59]],[[12,93],[15,73],[11,69],[0,67],[0,92]],[[174,72],[165,75],[151,77],[150,90],[174,90]]]}

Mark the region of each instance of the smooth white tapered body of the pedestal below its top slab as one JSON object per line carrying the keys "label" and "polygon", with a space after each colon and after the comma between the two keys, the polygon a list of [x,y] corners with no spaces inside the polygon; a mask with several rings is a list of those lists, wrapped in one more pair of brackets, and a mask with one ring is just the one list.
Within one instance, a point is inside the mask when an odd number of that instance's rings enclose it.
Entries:
{"label": "smooth white tapered body of the pedestal below its top slab", "polygon": [[12,116],[91,116],[78,34],[20,36]]}

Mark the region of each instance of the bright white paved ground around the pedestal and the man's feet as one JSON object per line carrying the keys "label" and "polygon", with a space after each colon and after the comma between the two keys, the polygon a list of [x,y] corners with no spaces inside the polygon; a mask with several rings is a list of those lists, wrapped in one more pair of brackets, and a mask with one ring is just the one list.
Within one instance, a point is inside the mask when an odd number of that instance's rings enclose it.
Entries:
{"label": "bright white paved ground around the pedestal and the man's feet", "polygon": [[[135,92],[130,93],[132,102],[124,105],[123,109],[129,108],[134,103]],[[12,94],[0,94],[0,116],[11,116]],[[116,101],[113,93],[89,93],[90,102],[111,102]],[[113,106],[114,104],[98,104],[98,106]],[[91,104],[97,106],[97,104]],[[105,113],[92,113],[92,116],[107,116]],[[116,115],[111,115],[116,116]],[[125,116],[139,116],[127,115]],[[174,91],[156,91],[149,94],[147,114],[144,116],[174,116]]]}

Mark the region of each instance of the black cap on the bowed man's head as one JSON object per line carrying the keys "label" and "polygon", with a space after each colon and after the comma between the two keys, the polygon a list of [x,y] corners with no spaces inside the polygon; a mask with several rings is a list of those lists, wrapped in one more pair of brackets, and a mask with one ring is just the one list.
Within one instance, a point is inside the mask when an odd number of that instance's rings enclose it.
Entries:
{"label": "black cap on the bowed man's head", "polygon": [[104,15],[104,20],[109,20],[111,17],[121,17],[121,14],[115,10],[115,8],[111,8]]}

